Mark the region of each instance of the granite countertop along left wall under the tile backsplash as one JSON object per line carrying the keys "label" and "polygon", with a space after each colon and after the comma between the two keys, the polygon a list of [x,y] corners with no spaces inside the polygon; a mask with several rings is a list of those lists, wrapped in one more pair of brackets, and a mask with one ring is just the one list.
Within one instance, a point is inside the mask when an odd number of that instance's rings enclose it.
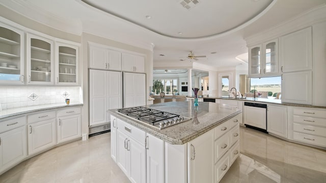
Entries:
{"label": "granite countertop along left wall under the tile backsplash", "polygon": [[83,105],[82,103],[70,103],[67,105],[66,103],[59,103],[59,104],[44,104],[44,105],[36,105],[36,106],[26,106],[26,107],[19,107],[13,109],[6,109],[0,111],[0,119],[11,117],[19,114],[25,114],[29,112],[37,112],[41,110],[47,109],[56,109],[62,107],[73,107],[73,106],[80,106]]}

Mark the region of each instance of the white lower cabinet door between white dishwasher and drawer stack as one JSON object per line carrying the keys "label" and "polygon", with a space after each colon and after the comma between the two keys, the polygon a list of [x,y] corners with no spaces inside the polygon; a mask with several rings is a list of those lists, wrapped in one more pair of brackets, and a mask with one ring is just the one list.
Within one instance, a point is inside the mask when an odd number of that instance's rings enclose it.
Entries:
{"label": "white lower cabinet door between white dishwasher and drawer stack", "polygon": [[287,138],[287,107],[267,105],[267,132]]}

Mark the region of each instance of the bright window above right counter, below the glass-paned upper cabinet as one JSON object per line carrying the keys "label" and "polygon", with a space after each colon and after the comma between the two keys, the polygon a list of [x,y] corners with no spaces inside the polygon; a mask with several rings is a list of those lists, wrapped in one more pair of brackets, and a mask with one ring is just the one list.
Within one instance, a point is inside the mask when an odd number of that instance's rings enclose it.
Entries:
{"label": "bright window above right counter, below the glass-paned upper cabinet", "polygon": [[281,76],[251,78],[250,93],[254,93],[255,90],[258,93],[267,92],[265,98],[275,98],[277,93],[281,92]]}

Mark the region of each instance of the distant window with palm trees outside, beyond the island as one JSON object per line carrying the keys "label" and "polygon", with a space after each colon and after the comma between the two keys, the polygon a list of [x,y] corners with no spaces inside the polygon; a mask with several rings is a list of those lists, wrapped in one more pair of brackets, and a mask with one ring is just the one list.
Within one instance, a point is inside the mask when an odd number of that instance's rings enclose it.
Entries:
{"label": "distant window with palm trees outside, beyond the island", "polygon": [[155,95],[161,92],[166,95],[178,95],[178,79],[154,79],[152,92]]}

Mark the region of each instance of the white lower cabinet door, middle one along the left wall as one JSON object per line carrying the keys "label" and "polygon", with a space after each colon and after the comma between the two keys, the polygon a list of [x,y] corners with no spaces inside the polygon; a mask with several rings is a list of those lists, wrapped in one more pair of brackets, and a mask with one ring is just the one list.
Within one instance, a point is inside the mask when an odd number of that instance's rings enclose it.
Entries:
{"label": "white lower cabinet door, middle one along the left wall", "polygon": [[28,124],[29,155],[38,153],[56,144],[56,119]]}

